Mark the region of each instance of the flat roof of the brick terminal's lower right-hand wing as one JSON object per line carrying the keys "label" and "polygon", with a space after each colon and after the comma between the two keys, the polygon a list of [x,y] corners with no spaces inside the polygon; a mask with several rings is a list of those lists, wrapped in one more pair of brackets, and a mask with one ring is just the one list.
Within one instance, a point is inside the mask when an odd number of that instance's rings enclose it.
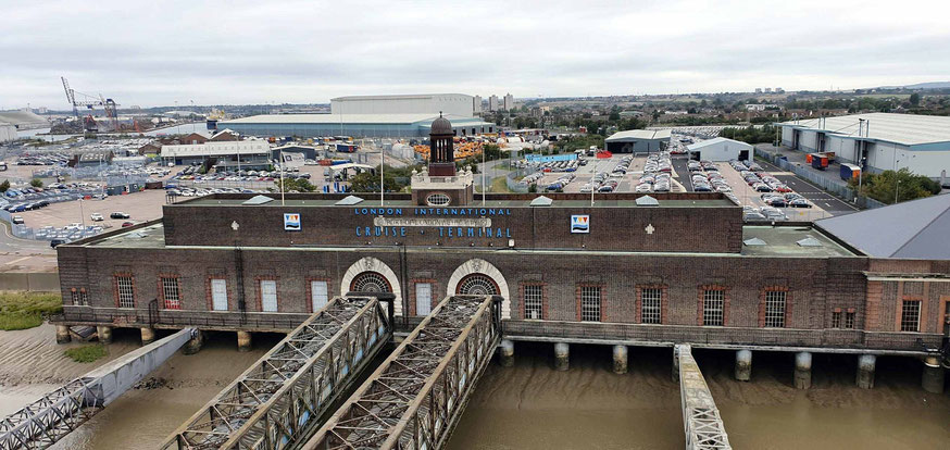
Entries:
{"label": "flat roof of the brick terminal's lower right-hand wing", "polygon": [[[759,239],[764,245],[752,243]],[[857,257],[810,226],[743,226],[742,254],[747,257]],[[801,242],[801,243],[799,243]]]}

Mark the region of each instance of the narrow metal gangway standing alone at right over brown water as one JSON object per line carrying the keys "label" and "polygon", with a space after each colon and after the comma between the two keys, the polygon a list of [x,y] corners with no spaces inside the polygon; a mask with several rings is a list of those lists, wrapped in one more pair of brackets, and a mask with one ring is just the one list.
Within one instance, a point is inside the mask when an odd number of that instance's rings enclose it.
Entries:
{"label": "narrow metal gangway standing alone at right over brown water", "polygon": [[674,364],[679,370],[679,397],[686,449],[732,449],[720,410],[709,391],[699,364],[692,358],[688,343],[673,349]]}

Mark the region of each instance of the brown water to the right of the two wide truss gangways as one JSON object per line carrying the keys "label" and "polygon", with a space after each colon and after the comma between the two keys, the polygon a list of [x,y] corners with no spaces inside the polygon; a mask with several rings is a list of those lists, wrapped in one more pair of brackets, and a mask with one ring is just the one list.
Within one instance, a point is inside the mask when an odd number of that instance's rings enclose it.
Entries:
{"label": "brown water to the right of the two wide truss gangways", "polygon": [[[880,358],[873,390],[854,386],[857,357],[814,358],[812,388],[791,386],[791,353],[755,353],[752,380],[732,377],[734,353],[695,351],[736,449],[947,449],[950,396],[924,392],[921,363]],[[672,350],[632,349],[630,373],[610,372],[610,347],[518,345],[515,366],[492,364],[448,448],[676,449],[684,447]]]}

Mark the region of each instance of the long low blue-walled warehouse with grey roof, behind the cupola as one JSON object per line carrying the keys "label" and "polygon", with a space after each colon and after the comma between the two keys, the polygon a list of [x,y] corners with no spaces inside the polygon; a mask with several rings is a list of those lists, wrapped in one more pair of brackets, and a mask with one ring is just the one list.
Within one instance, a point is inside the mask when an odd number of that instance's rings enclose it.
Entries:
{"label": "long low blue-walled warehouse with grey roof, behind the cupola", "polygon": [[[471,107],[471,99],[468,100]],[[225,126],[245,136],[297,137],[426,137],[439,113],[416,114],[265,114],[224,121]],[[493,134],[495,124],[478,117],[446,115],[455,136]]]}

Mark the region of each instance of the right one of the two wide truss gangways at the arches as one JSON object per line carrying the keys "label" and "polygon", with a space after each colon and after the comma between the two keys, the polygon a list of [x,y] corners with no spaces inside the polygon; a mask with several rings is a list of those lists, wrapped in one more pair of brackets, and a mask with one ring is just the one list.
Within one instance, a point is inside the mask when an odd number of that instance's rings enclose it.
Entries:
{"label": "right one of the two wide truss gangways at the arches", "polygon": [[446,298],[303,448],[442,448],[501,339],[500,317],[500,297]]}

